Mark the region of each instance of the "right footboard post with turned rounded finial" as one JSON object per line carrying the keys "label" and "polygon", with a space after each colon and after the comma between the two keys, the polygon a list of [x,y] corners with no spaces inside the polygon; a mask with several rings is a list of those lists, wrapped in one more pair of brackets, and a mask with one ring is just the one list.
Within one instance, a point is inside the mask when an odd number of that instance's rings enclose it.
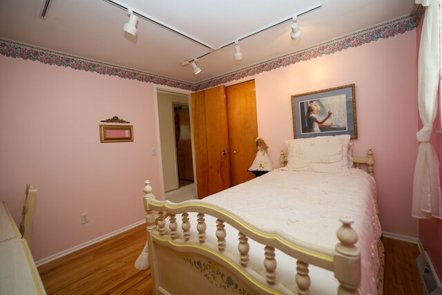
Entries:
{"label": "right footboard post with turned rounded finial", "polygon": [[360,294],[361,251],[355,245],[358,234],[352,229],[352,218],[342,216],[339,220],[343,226],[336,233],[340,242],[336,244],[337,254],[334,259],[334,273],[340,283],[338,294]]}

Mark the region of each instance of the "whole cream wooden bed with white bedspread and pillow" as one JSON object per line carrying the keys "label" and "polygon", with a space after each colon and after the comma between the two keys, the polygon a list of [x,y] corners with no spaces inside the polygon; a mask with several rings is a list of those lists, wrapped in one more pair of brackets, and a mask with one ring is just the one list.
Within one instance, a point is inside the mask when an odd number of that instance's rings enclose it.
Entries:
{"label": "whole cream wooden bed with white bedspread and pillow", "polygon": [[203,200],[155,200],[146,180],[135,265],[155,294],[378,294],[371,149],[352,158],[349,135],[286,144],[280,169]]}

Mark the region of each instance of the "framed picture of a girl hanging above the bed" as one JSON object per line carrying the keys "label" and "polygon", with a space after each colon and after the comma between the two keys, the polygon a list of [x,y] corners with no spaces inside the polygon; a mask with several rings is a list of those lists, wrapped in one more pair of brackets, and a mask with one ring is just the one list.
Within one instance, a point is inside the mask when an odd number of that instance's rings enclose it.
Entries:
{"label": "framed picture of a girl hanging above the bed", "polygon": [[291,95],[295,138],[349,134],[358,138],[354,84]]}

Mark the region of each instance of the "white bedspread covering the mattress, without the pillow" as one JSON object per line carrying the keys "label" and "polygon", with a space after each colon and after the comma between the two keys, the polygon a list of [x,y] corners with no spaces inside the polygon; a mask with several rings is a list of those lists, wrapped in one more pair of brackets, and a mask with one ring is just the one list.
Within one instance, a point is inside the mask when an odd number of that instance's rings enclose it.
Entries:
{"label": "white bedspread covering the mattress, without the pillow", "polygon": [[[376,183],[365,171],[350,172],[334,175],[278,169],[204,201],[229,207],[258,227],[280,229],[294,238],[331,249],[338,243],[340,216],[351,216],[359,237],[356,245],[361,249],[361,294],[377,294],[381,226]],[[278,260],[278,269],[283,264]],[[327,276],[332,279],[330,274]]]}

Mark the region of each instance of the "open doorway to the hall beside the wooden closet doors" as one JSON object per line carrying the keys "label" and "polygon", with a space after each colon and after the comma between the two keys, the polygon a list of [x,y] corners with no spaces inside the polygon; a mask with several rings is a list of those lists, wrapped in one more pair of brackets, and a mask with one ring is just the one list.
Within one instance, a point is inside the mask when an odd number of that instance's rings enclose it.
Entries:
{"label": "open doorway to the hall beside the wooden closet doors", "polygon": [[157,106],[166,200],[194,199],[189,95],[158,89]]}

